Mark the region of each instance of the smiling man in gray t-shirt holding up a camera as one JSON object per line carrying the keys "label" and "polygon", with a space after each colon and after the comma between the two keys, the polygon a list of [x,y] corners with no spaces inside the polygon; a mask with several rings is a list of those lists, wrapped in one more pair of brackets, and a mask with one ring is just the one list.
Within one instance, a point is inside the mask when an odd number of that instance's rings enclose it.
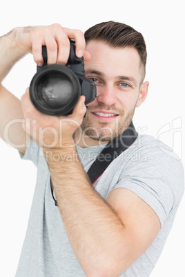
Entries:
{"label": "smiling man in gray t-shirt holding up a camera", "polygon": [[135,107],[146,99],[142,34],[113,21],[93,26],[85,39],[58,24],[16,28],[1,37],[1,80],[27,52],[42,65],[42,45],[48,64],[65,65],[69,39],[97,85],[87,113],[84,96],[72,114],[48,116],[32,105],[28,89],[20,103],[1,85],[1,137],[9,121],[23,119],[23,128],[11,126],[9,141],[38,167],[17,276],[149,276],[184,192],[179,158],[138,135],[93,185],[86,174],[108,142],[131,135]]}

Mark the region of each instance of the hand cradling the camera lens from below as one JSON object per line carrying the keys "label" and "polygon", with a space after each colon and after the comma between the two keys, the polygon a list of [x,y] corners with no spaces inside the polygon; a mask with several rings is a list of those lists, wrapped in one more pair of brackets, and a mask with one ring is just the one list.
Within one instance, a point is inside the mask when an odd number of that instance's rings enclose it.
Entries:
{"label": "hand cradling the camera lens from below", "polygon": [[21,97],[23,130],[30,138],[45,148],[73,147],[73,134],[81,125],[86,112],[85,96],[80,96],[72,114],[49,116],[39,112],[30,101],[29,89]]}

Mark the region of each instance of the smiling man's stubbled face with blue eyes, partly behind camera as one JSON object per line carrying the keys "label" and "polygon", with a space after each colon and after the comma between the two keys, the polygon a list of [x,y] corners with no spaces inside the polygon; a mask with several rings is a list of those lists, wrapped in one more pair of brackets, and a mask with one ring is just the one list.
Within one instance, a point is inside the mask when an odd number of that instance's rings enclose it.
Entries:
{"label": "smiling man's stubbled face with blue eyes, partly behind camera", "polygon": [[141,85],[142,65],[134,48],[90,41],[86,50],[91,54],[85,62],[86,77],[97,85],[97,98],[88,104],[81,125],[90,146],[108,142],[126,130],[135,107],[146,98],[148,82]]}

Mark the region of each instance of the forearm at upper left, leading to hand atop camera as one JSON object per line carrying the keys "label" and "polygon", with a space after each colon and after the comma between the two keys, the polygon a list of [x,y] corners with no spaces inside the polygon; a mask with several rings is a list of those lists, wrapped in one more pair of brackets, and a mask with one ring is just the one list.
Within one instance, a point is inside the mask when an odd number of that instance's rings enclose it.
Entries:
{"label": "forearm at upper left, leading to hand atop camera", "polygon": [[14,63],[26,54],[16,42],[17,30],[15,28],[3,37],[0,37],[0,83],[10,72]]}

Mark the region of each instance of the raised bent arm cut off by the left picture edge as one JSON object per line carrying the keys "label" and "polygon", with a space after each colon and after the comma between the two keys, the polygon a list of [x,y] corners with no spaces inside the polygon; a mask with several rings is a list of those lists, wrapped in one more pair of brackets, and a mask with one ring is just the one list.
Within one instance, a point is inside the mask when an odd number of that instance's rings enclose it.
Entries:
{"label": "raised bent arm cut off by the left picture edge", "polygon": [[17,29],[14,29],[0,38],[0,137],[24,152],[26,133],[21,127],[23,119],[21,102],[1,85],[14,63],[26,54],[15,43],[16,34]]}

